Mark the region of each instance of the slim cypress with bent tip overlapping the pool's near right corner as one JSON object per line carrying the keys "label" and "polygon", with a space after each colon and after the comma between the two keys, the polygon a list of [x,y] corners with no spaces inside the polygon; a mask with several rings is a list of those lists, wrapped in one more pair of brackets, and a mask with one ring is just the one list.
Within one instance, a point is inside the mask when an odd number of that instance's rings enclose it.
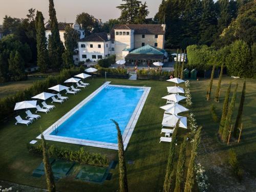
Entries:
{"label": "slim cypress with bent tip overlapping the pool's near right corner", "polygon": [[125,158],[124,158],[122,134],[121,134],[118,123],[113,119],[111,119],[111,121],[116,125],[117,137],[118,137],[119,191],[128,192],[127,173],[126,173],[126,164],[125,164]]}

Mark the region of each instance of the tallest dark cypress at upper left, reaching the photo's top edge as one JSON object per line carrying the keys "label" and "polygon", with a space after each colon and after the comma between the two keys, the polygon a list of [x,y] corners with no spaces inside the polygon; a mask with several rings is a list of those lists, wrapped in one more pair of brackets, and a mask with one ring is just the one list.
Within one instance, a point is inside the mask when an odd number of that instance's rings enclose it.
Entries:
{"label": "tallest dark cypress at upper left, reaching the photo's top edge", "polygon": [[48,40],[48,51],[51,67],[53,70],[58,71],[62,68],[62,53],[64,51],[64,46],[59,36],[58,21],[53,0],[49,0],[49,16],[51,35],[49,35]]}

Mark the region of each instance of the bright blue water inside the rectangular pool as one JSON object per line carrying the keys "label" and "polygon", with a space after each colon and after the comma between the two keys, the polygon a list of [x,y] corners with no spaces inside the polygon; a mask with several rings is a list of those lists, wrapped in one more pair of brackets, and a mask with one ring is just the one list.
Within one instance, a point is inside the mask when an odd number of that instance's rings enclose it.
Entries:
{"label": "bright blue water inside the rectangular pool", "polygon": [[117,143],[116,127],[110,119],[118,122],[123,133],[143,91],[106,86],[50,135]]}

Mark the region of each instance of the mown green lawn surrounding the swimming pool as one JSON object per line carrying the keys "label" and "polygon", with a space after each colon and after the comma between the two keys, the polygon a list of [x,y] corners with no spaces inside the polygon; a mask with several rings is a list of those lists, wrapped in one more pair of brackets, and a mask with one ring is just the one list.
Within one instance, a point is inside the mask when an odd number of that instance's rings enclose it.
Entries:
{"label": "mown green lawn surrounding the swimming pool", "polygon": [[[217,103],[218,114],[221,114],[221,106],[223,97],[228,82],[231,78],[223,79],[221,102]],[[129,145],[126,149],[126,160],[134,160],[134,164],[127,165],[128,182],[130,191],[159,191],[162,189],[165,168],[167,163],[167,156],[169,150],[169,143],[159,143],[161,120],[163,117],[163,110],[159,106],[165,104],[165,100],[161,97],[167,94],[166,87],[171,86],[170,82],[166,81],[131,81],[124,79],[108,79],[112,84],[125,84],[130,86],[146,86],[151,87],[150,94],[147,97],[144,108],[141,112],[139,120],[136,124],[133,135],[130,139]],[[233,80],[233,79],[231,79]],[[47,129],[57,119],[70,111],[82,99],[90,95],[99,86],[101,86],[103,78],[94,78],[88,80],[91,85],[84,89],[76,96],[71,95],[70,99],[63,104],[56,104],[50,114],[41,114],[42,118],[38,122],[30,126],[14,125],[14,121],[3,125],[0,129],[0,179],[8,180],[16,183],[32,185],[44,188],[46,185],[45,177],[33,178],[31,173],[41,162],[40,157],[32,156],[28,153],[26,144],[35,139],[42,130]],[[209,113],[209,103],[205,101],[205,93],[207,90],[209,80],[191,81],[191,94],[193,97],[193,111],[196,114],[199,124],[203,125],[203,138],[200,148],[198,161],[206,167],[207,174],[210,178],[214,178],[212,172],[212,157],[218,156],[218,159],[226,163],[226,151],[229,147],[218,142],[216,133],[218,124],[211,120]],[[242,79],[239,79],[240,86],[238,89],[238,97],[242,89]],[[214,80],[213,90],[215,91],[217,80]],[[242,141],[239,145],[233,145],[239,154],[239,158],[243,161],[246,170],[251,170],[255,173],[256,166],[256,131],[253,129],[253,122],[255,122],[255,102],[256,102],[256,80],[247,81],[247,94],[245,112],[243,116],[244,132]],[[214,93],[214,92],[213,92]],[[236,105],[237,109],[238,104]],[[236,110],[235,110],[236,111]],[[23,112],[24,113],[24,112]],[[185,113],[186,114],[186,113]],[[182,114],[181,114],[182,115]],[[184,114],[183,114],[184,115]],[[182,141],[182,136],[187,132],[180,129],[178,135],[180,136],[178,143]],[[48,141],[57,146],[67,146],[73,149],[80,147],[75,144],[61,143]],[[210,144],[209,144],[210,143]],[[208,146],[208,145],[209,146]],[[209,147],[214,146],[212,150]],[[179,147],[179,145],[178,145]],[[97,147],[85,147],[91,152],[98,152],[108,155],[109,159],[117,159],[117,152],[114,150],[106,150]],[[189,151],[189,150],[188,150]],[[254,153],[254,154],[253,154]],[[243,158],[242,158],[243,157]],[[218,166],[218,165],[217,165]],[[74,180],[73,177],[68,177],[59,180],[57,189],[59,191],[116,191],[118,189],[118,168],[112,170],[113,177],[111,181],[105,181],[102,185],[86,183]],[[216,185],[216,180],[210,180],[212,186]],[[225,182],[225,181],[221,181]]]}

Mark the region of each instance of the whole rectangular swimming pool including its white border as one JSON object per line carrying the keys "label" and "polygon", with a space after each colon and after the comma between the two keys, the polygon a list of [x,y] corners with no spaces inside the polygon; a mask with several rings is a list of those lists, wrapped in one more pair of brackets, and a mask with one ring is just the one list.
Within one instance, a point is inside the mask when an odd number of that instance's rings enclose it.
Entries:
{"label": "whole rectangular swimming pool including its white border", "polygon": [[117,131],[110,120],[114,119],[119,123],[126,148],[150,88],[109,83],[50,126],[43,133],[45,138],[117,150]]}

